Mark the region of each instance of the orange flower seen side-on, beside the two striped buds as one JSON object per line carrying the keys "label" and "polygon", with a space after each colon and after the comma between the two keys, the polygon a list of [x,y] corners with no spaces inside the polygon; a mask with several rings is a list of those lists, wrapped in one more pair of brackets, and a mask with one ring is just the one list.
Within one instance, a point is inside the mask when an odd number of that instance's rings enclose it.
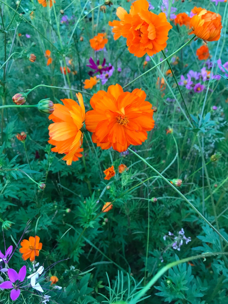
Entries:
{"label": "orange flower seen side-on, beside the two striped buds", "polygon": [[64,105],[54,104],[54,112],[49,115],[54,123],[48,127],[48,142],[56,146],[52,151],[66,154],[63,160],[67,161],[67,165],[82,157],[80,152],[83,151],[83,134],[80,129],[85,120],[85,106],[81,93],[76,96],[80,106],[73,99],[61,99]]}

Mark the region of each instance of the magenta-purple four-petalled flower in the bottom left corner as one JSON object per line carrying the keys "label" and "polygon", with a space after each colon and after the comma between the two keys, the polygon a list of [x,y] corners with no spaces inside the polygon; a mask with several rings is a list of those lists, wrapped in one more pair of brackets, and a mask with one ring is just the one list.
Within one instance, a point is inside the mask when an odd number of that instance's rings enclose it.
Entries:
{"label": "magenta-purple four-petalled flower in the bottom left corner", "polygon": [[[4,289],[11,289],[11,292],[10,292],[10,298],[15,301],[21,291],[19,289],[19,283],[24,281],[25,279],[25,276],[26,276],[26,266],[22,266],[22,268],[19,270],[19,273],[16,272],[16,270],[12,269],[12,268],[9,268],[8,269],[8,277],[9,277],[9,280],[10,281],[5,281],[3,282],[2,284],[0,284],[0,288],[4,288]],[[18,283],[16,284],[12,284],[12,283],[15,283],[16,281],[18,281]]]}

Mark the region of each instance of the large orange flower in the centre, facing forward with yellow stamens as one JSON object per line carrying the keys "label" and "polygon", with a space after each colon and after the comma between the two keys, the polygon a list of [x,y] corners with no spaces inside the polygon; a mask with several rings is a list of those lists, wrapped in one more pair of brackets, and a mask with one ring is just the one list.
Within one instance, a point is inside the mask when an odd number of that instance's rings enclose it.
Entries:
{"label": "large orange flower in the centre, facing forward with yellow stamens", "polygon": [[86,113],[85,123],[93,132],[92,140],[102,149],[113,147],[119,152],[130,145],[141,145],[147,139],[147,131],[154,127],[153,110],[145,101],[141,89],[123,92],[116,84],[108,91],[98,91],[90,100],[93,110]]}

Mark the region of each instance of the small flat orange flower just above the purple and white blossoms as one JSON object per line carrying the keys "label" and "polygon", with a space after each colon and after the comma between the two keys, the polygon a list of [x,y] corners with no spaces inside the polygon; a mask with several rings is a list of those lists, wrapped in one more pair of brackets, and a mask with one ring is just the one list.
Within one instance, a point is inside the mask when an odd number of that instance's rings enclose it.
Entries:
{"label": "small flat orange flower just above the purple and white blossoms", "polygon": [[22,240],[22,247],[19,249],[20,253],[22,253],[22,259],[26,261],[30,257],[30,261],[34,261],[35,256],[39,256],[42,245],[37,235],[35,237],[29,237],[29,240]]}

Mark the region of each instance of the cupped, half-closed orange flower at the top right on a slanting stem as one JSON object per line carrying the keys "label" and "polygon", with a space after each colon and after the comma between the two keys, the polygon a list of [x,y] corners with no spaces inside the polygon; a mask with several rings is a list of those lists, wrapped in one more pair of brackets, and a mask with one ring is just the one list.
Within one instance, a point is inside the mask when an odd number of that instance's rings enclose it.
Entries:
{"label": "cupped, half-closed orange flower at the top right on a slanting stem", "polygon": [[190,28],[198,38],[206,41],[217,41],[222,29],[221,16],[214,12],[202,9],[190,20]]}

